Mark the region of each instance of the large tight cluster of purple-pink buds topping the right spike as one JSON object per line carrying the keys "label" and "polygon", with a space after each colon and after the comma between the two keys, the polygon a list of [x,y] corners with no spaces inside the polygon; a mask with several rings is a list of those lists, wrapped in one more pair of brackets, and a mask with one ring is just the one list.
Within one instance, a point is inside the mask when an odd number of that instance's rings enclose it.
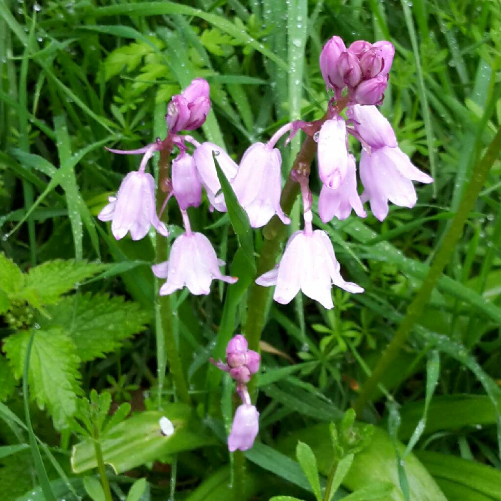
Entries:
{"label": "large tight cluster of purple-pink buds topping the right spike", "polygon": [[347,49],[340,37],[332,37],[320,54],[320,70],[337,99],[347,88],[353,103],[381,104],[394,56],[390,42],[357,40]]}

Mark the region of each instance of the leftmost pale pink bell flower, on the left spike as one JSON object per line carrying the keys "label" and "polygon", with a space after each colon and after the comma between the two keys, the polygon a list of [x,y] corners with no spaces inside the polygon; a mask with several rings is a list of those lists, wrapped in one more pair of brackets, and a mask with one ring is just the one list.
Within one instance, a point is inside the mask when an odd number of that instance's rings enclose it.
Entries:
{"label": "leftmost pale pink bell flower, on the left spike", "polygon": [[109,198],[98,214],[101,221],[111,221],[111,232],[120,240],[128,231],[133,240],[140,240],[153,225],[163,236],[169,234],[165,224],[160,221],[155,208],[155,181],[151,174],[142,170],[129,172],[117,196]]}

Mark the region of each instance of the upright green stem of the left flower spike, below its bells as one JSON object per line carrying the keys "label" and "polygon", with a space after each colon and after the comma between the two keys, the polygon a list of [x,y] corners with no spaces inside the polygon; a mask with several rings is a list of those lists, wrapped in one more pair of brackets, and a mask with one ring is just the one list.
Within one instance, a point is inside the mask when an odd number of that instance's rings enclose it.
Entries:
{"label": "upright green stem of the left flower spike, below its bells", "polygon": [[[162,190],[164,180],[169,174],[169,157],[173,145],[168,145],[160,151],[159,183],[160,189],[157,191],[157,208],[159,209],[164,200],[165,192]],[[156,234],[155,240],[155,261],[160,263],[167,258],[167,239]],[[158,366],[158,403],[161,407],[163,383],[165,380],[165,359],[169,364],[169,370],[172,375],[176,394],[181,402],[190,403],[188,386],[184,379],[184,373],[181,365],[181,359],[177,349],[174,337],[174,319],[172,316],[172,307],[170,296],[156,296],[155,314],[156,314],[156,340],[157,340],[157,366]]]}

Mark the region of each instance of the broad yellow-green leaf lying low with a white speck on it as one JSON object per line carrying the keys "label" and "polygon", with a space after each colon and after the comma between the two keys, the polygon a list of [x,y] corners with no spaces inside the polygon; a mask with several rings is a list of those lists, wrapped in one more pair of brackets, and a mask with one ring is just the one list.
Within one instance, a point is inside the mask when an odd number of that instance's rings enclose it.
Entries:
{"label": "broad yellow-green leaf lying low with a white speck on it", "polygon": [[[174,433],[168,437],[160,431],[159,421],[162,416],[168,417],[174,425]],[[101,436],[104,462],[116,474],[149,461],[165,461],[167,456],[176,452],[212,444],[214,439],[200,431],[191,415],[191,408],[184,404],[171,404],[163,412],[134,414]],[[97,466],[92,440],[85,440],[73,447],[71,465],[75,473]]]}

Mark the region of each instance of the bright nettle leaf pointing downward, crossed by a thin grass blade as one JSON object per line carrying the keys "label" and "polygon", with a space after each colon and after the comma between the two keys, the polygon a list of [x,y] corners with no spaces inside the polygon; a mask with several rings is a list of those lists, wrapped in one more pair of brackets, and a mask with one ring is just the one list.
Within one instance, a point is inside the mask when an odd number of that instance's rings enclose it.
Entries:
{"label": "bright nettle leaf pointing downward, crossed by a thin grass blade", "polygon": [[[4,351],[20,379],[31,332],[23,331],[9,336]],[[41,409],[47,407],[56,429],[66,426],[76,410],[80,374],[80,359],[72,339],[59,329],[36,329],[30,357],[29,383],[31,399]]]}

